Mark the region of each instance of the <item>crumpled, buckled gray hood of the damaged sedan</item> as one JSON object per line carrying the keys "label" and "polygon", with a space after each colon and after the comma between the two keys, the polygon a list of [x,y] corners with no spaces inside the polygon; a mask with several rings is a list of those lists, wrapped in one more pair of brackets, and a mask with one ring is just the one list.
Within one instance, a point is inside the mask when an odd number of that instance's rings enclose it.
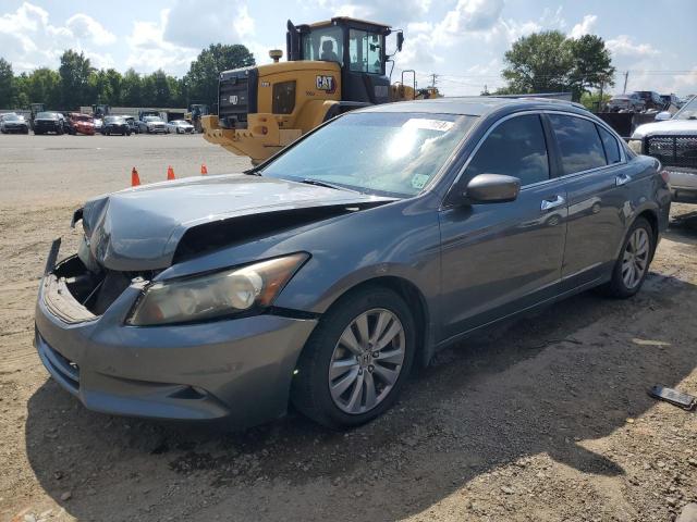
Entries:
{"label": "crumpled, buckled gray hood of the damaged sedan", "polygon": [[[245,174],[191,177],[146,185],[85,203],[82,219],[89,250],[115,271],[164,269],[192,227],[250,214],[392,201]],[[280,220],[281,221],[281,220]],[[234,222],[233,222],[234,224]],[[279,223],[282,225],[282,223]]]}

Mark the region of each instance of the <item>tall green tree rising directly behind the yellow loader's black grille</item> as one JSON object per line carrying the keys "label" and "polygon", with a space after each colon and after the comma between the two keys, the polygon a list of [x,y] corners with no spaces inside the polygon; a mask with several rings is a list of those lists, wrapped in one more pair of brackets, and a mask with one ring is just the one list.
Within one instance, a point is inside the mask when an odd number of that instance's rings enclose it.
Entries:
{"label": "tall green tree rising directly behind the yellow loader's black grille", "polygon": [[192,62],[188,73],[184,76],[187,103],[213,105],[218,101],[220,73],[255,63],[254,55],[245,46],[237,44],[209,46]]}

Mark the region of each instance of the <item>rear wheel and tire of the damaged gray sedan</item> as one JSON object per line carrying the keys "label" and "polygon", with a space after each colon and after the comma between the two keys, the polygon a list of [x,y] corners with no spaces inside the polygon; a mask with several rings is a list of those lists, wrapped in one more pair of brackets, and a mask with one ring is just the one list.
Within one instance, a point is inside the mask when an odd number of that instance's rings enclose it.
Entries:
{"label": "rear wheel and tire of the damaged gray sedan", "polygon": [[[627,299],[636,295],[649,273],[655,249],[653,227],[644,217],[637,217],[622,243],[620,256],[612,269],[612,278],[598,288],[600,293],[615,299]],[[625,260],[625,256],[628,259]]]}

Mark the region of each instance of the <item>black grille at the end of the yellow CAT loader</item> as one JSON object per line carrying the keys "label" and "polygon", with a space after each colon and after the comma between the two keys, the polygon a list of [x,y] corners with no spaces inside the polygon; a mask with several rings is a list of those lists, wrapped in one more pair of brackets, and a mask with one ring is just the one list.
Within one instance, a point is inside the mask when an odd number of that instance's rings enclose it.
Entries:
{"label": "black grille at the end of the yellow CAT loader", "polygon": [[256,67],[239,69],[220,74],[218,121],[221,127],[247,127],[247,114],[257,112],[257,77]]}

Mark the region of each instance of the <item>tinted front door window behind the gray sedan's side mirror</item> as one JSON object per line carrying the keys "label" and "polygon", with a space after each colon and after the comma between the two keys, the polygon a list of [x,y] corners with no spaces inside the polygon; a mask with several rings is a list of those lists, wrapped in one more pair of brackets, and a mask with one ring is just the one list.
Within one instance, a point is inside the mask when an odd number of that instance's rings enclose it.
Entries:
{"label": "tinted front door window behind the gray sedan's side mirror", "polygon": [[522,186],[549,179],[540,117],[536,114],[515,116],[496,127],[467,166],[467,179],[478,174],[515,176]]}

